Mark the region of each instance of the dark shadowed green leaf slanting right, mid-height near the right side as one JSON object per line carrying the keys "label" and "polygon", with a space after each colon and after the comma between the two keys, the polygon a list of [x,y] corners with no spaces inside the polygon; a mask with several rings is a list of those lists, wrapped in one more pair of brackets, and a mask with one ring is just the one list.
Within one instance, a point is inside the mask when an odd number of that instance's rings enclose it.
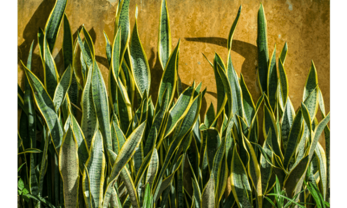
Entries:
{"label": "dark shadowed green leaf slanting right, mid-height near the right side", "polygon": [[286,169],[288,169],[289,162],[291,158],[294,156],[296,152],[296,148],[299,143],[299,139],[301,136],[300,129],[302,128],[302,124],[303,124],[302,120],[303,120],[303,112],[302,112],[302,109],[300,109],[294,118],[293,125],[292,125],[292,128],[290,129],[289,136],[288,136],[287,148],[286,148],[284,160],[283,160],[283,166]]}

